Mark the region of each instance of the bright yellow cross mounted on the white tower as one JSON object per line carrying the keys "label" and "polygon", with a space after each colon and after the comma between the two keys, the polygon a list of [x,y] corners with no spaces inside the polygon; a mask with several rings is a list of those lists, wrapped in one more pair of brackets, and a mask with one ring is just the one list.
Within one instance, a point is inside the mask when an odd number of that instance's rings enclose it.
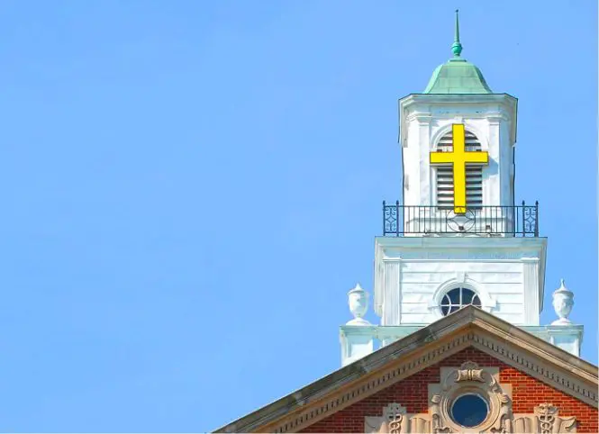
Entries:
{"label": "bright yellow cross mounted on the white tower", "polygon": [[467,151],[464,124],[454,123],[453,149],[451,152],[431,152],[431,164],[452,164],[453,166],[453,209],[457,214],[466,212],[466,165],[488,164],[488,152]]}

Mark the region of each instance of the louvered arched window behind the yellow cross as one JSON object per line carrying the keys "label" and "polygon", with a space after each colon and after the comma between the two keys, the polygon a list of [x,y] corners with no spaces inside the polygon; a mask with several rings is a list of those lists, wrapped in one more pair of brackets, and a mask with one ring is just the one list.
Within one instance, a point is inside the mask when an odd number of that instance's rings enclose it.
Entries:
{"label": "louvered arched window behind the yellow cross", "polygon": [[[476,136],[466,131],[467,151],[481,151],[480,141]],[[437,151],[451,152],[452,132],[449,131],[440,138],[437,143]],[[440,208],[453,208],[453,167],[440,165],[436,167],[437,172],[437,206]],[[466,166],[466,206],[467,208],[480,208],[483,204],[483,167],[482,165],[468,164]]]}

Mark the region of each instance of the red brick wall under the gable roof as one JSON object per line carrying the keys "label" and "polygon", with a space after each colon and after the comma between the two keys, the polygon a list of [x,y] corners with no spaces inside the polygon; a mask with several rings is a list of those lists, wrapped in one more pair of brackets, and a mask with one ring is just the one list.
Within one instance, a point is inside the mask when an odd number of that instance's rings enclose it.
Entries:
{"label": "red brick wall under the gable roof", "polygon": [[409,413],[428,412],[428,384],[440,383],[440,366],[460,366],[467,360],[476,362],[479,366],[500,368],[500,382],[512,384],[514,413],[532,413],[534,407],[540,403],[550,402],[558,406],[560,416],[576,416],[578,422],[576,432],[599,432],[597,409],[541,383],[476,348],[466,348],[436,365],[423,369],[418,374],[331,414],[301,432],[364,432],[364,417],[380,416],[383,407],[391,402],[400,403]]}

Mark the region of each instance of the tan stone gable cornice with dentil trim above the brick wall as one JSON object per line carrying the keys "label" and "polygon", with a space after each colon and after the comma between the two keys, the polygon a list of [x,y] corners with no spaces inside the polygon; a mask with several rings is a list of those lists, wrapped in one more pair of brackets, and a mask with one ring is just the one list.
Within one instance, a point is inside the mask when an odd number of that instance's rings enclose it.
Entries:
{"label": "tan stone gable cornice with dentil trim above the brick wall", "polygon": [[597,366],[467,306],[215,432],[298,432],[467,347],[598,406]]}

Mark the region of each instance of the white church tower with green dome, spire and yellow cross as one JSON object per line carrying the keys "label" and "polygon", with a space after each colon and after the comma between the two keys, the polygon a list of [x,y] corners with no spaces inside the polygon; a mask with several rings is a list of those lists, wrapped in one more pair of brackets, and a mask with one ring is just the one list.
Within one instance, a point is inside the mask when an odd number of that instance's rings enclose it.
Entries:
{"label": "white church tower with green dome, spire and yellow cross", "polygon": [[343,364],[467,304],[579,354],[582,326],[540,326],[547,239],[538,204],[514,203],[517,100],[461,50],[456,15],[453,58],[399,101],[403,202],[384,203],[375,242],[380,326],[341,327]]}

